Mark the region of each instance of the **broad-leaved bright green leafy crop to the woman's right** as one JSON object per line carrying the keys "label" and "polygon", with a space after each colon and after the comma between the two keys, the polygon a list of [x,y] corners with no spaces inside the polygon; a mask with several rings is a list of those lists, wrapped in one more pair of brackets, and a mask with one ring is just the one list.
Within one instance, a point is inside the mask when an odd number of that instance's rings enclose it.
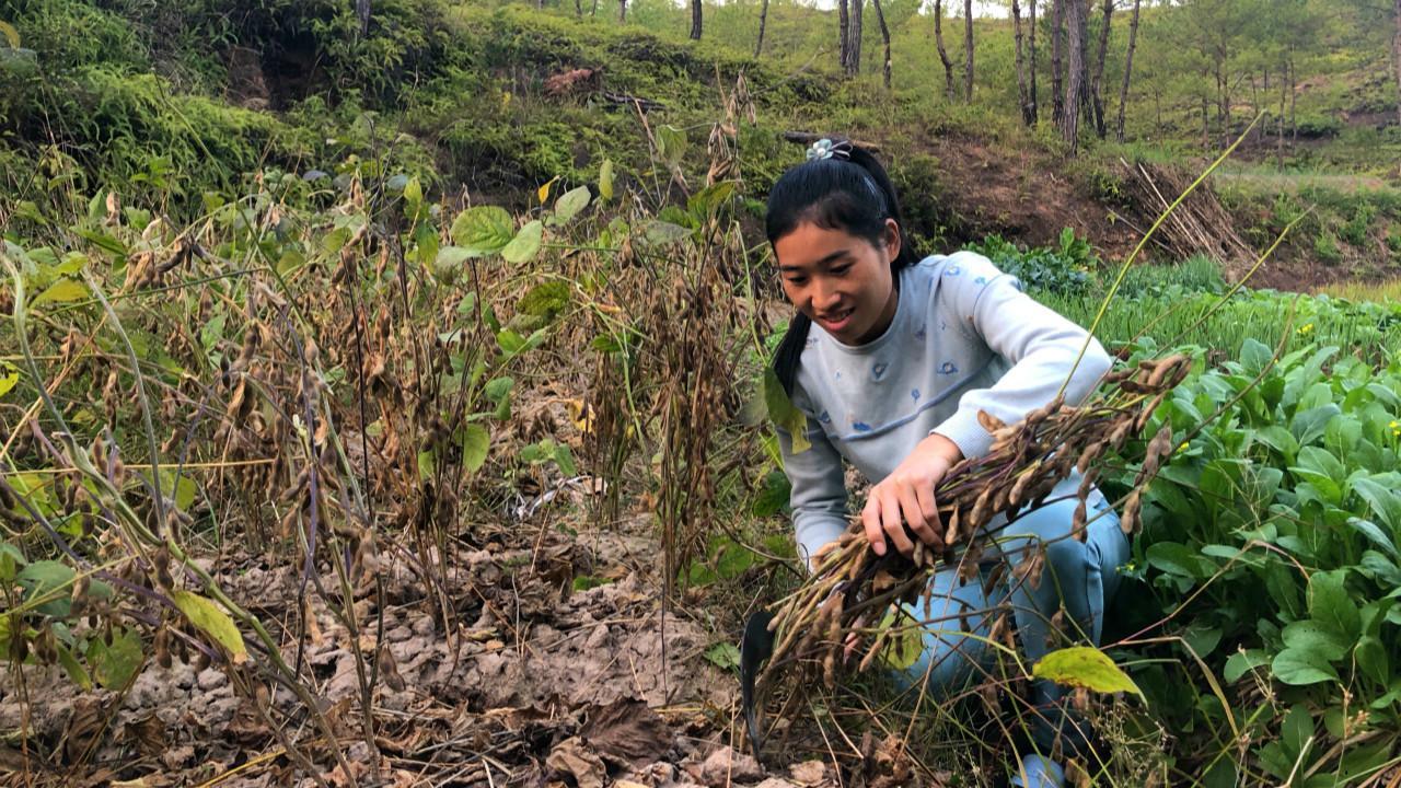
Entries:
{"label": "broad-leaved bright green leafy crop to the woman's right", "polygon": [[[1135,355],[1157,352],[1147,344]],[[1191,623],[1184,638],[1224,677],[1230,708],[1164,683],[1157,667],[1136,679],[1175,731],[1222,731],[1227,714],[1290,731],[1310,716],[1288,711],[1299,702],[1325,721],[1366,708],[1369,726],[1394,729],[1401,366],[1373,367],[1313,342],[1267,370],[1271,355],[1247,339],[1240,360],[1194,373],[1149,425],[1184,435],[1226,407],[1150,487],[1135,554],[1157,610]],[[1261,705],[1257,681],[1269,679],[1282,684],[1282,704]],[[1292,761],[1279,747],[1259,745],[1251,757],[1283,778]],[[1366,757],[1379,754],[1386,749]]]}

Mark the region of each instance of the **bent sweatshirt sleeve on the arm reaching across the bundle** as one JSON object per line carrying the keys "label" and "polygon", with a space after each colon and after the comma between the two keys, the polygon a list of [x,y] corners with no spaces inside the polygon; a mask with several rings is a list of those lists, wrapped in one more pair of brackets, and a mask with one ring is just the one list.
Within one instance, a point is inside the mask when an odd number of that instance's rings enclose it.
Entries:
{"label": "bent sweatshirt sleeve on the arm reaching across the bundle", "polygon": [[978,423],[978,411],[1006,423],[1055,398],[1070,374],[1080,348],[1084,358],[1065,390],[1068,402],[1079,404],[1110,370],[1110,355],[1089,332],[1021,292],[1021,283],[998,271],[975,252],[950,255],[958,276],[946,276],[933,308],[953,315],[969,339],[981,341],[1012,365],[992,387],[965,391],[958,409],[930,432],[953,440],[964,457],[981,457],[992,447],[992,435]]}

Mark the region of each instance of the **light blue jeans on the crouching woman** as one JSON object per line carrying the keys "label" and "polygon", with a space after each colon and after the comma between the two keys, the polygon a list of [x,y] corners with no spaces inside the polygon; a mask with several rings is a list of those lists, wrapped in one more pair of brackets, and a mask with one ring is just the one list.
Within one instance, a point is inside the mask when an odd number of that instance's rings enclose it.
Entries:
{"label": "light blue jeans on the crouching woman", "polygon": [[[1118,568],[1129,559],[1129,543],[1119,530],[1118,515],[1107,502],[1089,509],[1084,543],[1068,536],[1076,503],[1048,503],[991,534],[1010,564],[1007,569],[1031,557],[1038,543],[1045,545],[1045,565],[1037,587],[1005,571],[992,593],[984,595],[989,572],[1000,559],[992,564],[985,561],[979,578],[965,585],[960,585],[957,569],[937,572],[930,582],[933,593],[929,603],[920,599],[904,606],[905,613],[923,625],[923,651],[909,669],[897,676],[901,684],[922,687],[936,697],[968,686],[978,667],[991,662],[985,639],[992,630],[995,609],[1003,604],[1012,607],[1028,667],[1049,651],[1051,617],[1062,606],[1066,634],[1098,645],[1104,607],[1118,589]],[[985,558],[993,554],[991,545],[985,550]],[[1059,695],[1049,681],[1037,681],[1035,688],[1038,702]]]}

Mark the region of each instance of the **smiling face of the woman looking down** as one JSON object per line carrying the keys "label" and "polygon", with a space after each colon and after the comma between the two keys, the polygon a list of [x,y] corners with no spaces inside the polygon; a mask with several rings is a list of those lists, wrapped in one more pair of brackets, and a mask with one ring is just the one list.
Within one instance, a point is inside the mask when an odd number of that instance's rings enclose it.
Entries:
{"label": "smiling face of the woman looking down", "polygon": [[899,254],[899,227],[892,219],[880,247],[804,222],[773,244],[773,254],[783,293],[843,345],[876,339],[895,318],[890,261]]}

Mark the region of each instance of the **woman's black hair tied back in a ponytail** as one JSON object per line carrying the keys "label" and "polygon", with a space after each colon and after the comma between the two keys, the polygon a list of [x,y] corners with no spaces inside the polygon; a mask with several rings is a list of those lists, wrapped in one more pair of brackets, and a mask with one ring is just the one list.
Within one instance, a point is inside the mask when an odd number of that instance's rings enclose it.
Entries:
{"label": "woman's black hair tied back in a ponytail", "polygon": [[[876,157],[845,139],[836,140],[829,158],[815,158],[789,168],[769,189],[765,233],[769,245],[787,236],[799,224],[813,223],[824,230],[841,230],[857,238],[870,241],[874,247],[885,244],[885,220],[894,219],[899,227],[899,254],[890,261],[895,285],[898,272],[919,261],[909,236],[905,233],[905,219],[899,212],[895,188],[885,175],[885,168]],[[773,353],[773,372],[783,391],[793,395],[797,380],[797,366],[807,344],[811,318],[801,311],[793,315],[787,334]]]}

